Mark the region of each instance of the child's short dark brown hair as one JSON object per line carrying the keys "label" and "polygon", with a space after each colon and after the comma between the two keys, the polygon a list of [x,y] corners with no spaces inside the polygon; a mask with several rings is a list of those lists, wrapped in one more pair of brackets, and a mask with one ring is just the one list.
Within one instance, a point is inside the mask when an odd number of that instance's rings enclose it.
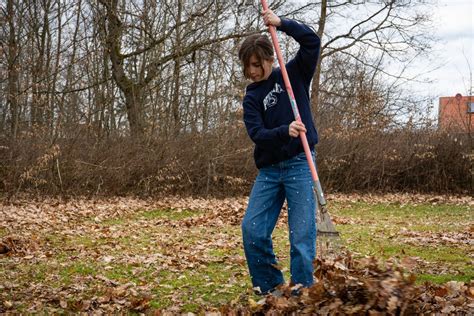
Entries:
{"label": "child's short dark brown hair", "polygon": [[244,76],[249,78],[247,69],[250,64],[250,57],[255,55],[260,62],[260,67],[263,71],[263,60],[273,59],[273,45],[266,35],[250,35],[247,37],[239,49],[239,59],[244,66]]}

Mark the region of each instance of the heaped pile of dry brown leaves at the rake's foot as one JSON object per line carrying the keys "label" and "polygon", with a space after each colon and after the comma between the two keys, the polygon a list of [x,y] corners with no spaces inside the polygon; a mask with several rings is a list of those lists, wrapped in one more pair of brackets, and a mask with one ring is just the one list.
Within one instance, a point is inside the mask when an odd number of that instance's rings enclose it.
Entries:
{"label": "heaped pile of dry brown leaves at the rake's foot", "polygon": [[240,306],[227,306],[222,314],[360,314],[419,315],[474,314],[474,281],[451,281],[444,285],[415,286],[415,276],[394,262],[382,266],[376,259],[355,260],[350,255],[318,260],[316,283],[292,296],[289,286],[283,295],[249,299]]}

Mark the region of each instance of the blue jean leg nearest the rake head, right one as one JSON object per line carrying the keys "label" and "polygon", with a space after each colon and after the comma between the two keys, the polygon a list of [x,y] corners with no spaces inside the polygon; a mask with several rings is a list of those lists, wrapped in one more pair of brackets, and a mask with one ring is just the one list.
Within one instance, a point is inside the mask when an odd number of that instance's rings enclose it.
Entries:
{"label": "blue jean leg nearest the rake head, right one", "polygon": [[316,197],[304,154],[288,161],[284,184],[288,201],[291,281],[309,287],[313,284],[316,256]]}

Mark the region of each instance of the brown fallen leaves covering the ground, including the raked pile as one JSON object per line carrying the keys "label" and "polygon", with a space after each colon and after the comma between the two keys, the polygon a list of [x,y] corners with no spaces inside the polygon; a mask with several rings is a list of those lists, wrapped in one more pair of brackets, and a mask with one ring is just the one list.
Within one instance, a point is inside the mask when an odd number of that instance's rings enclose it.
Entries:
{"label": "brown fallen leaves covering the ground, including the raked pile", "polygon": [[[444,197],[424,195],[334,195],[329,199],[341,202],[364,201],[367,203],[401,204],[453,204],[474,205],[466,197]],[[70,284],[54,287],[44,280],[16,279],[17,271],[8,270],[17,264],[45,264],[54,262],[55,256],[62,251],[74,255],[69,260],[95,258],[104,270],[112,269],[110,264],[128,264],[132,273],[140,274],[140,267],[155,265],[161,270],[183,272],[198,266],[206,266],[219,261],[209,256],[207,249],[241,247],[238,236],[225,232],[204,232],[223,225],[238,226],[245,212],[246,198],[199,199],[166,197],[159,200],[137,198],[113,199],[56,199],[39,200],[28,197],[15,201],[0,201],[0,259],[4,265],[5,277],[0,280],[0,312],[15,311],[24,306],[27,312],[46,309],[48,312],[82,311],[114,313],[120,311],[151,312],[156,314],[181,313],[182,298],[179,293],[168,296],[174,307],[155,310],[150,306],[153,299],[153,287],[145,281],[117,281],[104,275],[76,275]],[[194,215],[179,220],[169,218],[139,219],[137,211],[168,209],[175,212],[194,211]],[[106,221],[132,218],[127,227],[104,226]],[[285,224],[286,217],[279,225]],[[341,225],[357,221],[336,217]],[[140,244],[134,253],[123,253],[122,246],[116,242],[120,238],[136,237],[140,230],[165,225],[164,231],[156,231],[151,237],[153,245]],[[471,226],[472,227],[472,226]],[[167,236],[166,230],[177,233]],[[195,233],[200,239],[193,245],[184,241],[187,234]],[[410,243],[430,243],[433,240],[446,244],[464,244],[471,246],[473,230],[468,232],[413,232],[402,230],[401,238]],[[60,236],[52,241],[46,236]],[[64,244],[68,237],[84,238],[81,244]],[[167,237],[169,239],[167,240]],[[88,241],[87,238],[91,240]],[[103,242],[106,240],[106,242]],[[56,243],[55,243],[56,242]],[[86,245],[90,242],[90,245]],[[133,242],[133,240],[132,240]],[[59,244],[59,246],[57,245]],[[161,253],[153,252],[152,247],[168,249]],[[232,264],[243,266],[245,259],[233,254],[227,256]],[[410,270],[418,265],[417,258],[389,259],[378,262],[375,258],[355,259],[347,253],[335,259],[320,258],[315,262],[316,283],[309,289],[302,289],[300,296],[291,296],[291,287],[282,287],[282,297],[267,296],[258,301],[250,292],[244,292],[234,301],[220,308],[206,307],[206,313],[212,314],[473,314],[474,281],[469,283],[450,281],[443,285],[425,283],[415,285],[415,276]],[[58,263],[60,266],[65,263]],[[232,269],[232,265],[229,269]],[[0,268],[2,268],[0,266]],[[138,271],[138,272],[137,272]],[[155,271],[158,273],[159,269]],[[234,280],[235,282],[235,280]],[[171,287],[169,290],[173,290]],[[199,301],[200,298],[197,299]]]}

